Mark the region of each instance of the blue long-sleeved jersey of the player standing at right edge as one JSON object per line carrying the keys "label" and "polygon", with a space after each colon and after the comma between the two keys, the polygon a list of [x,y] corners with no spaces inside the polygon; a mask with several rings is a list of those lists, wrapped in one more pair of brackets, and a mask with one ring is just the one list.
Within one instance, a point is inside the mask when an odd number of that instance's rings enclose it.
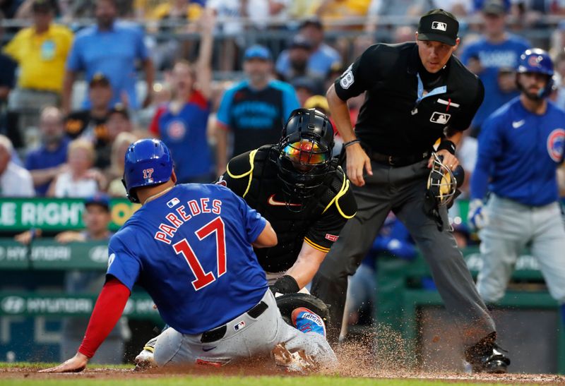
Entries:
{"label": "blue long-sleeved jersey of the player standing at right edge", "polygon": [[[558,199],[556,171],[563,162],[565,111],[547,102],[545,114],[527,111],[511,100],[484,122],[471,198],[488,190],[530,206]],[[490,177],[490,183],[489,183]]]}

